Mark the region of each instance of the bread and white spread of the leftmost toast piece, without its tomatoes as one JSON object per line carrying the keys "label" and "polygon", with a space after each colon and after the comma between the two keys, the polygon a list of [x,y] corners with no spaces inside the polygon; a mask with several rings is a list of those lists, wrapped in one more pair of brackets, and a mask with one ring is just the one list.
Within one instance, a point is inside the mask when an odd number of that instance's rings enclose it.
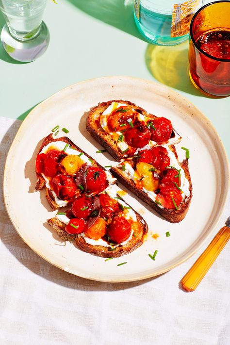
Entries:
{"label": "bread and white spread of the leftmost toast piece, without its tomatoes", "polygon": [[[46,153],[46,148],[49,150],[50,148],[60,150],[60,152],[63,152],[65,149],[66,145],[68,148],[65,151],[68,152],[69,149],[72,150],[71,154],[74,153],[75,155],[80,155],[81,158],[84,157],[84,160],[87,161],[87,164],[99,167],[100,169],[104,170],[108,179],[109,184],[115,183],[116,179],[112,177],[109,171],[104,169],[100,164],[98,164],[92,157],[90,157],[86,152],[84,152],[81,148],[76,146],[69,138],[66,136],[60,137],[60,138],[54,138],[52,133],[49,134],[43,141],[38,153],[37,153],[37,158],[40,153]],[[64,153],[64,152],[63,152]],[[36,190],[41,190],[43,188],[46,188],[46,198],[49,203],[49,206],[51,207],[52,210],[56,210],[60,207],[65,207],[70,204],[72,204],[74,197],[68,199],[60,199],[57,197],[55,192],[53,191],[51,185],[50,185],[50,178],[46,178],[44,173],[41,173],[37,169],[37,160],[36,160],[36,176],[37,176],[37,183],[36,183]],[[78,197],[81,194],[81,190],[76,191],[76,197]]]}

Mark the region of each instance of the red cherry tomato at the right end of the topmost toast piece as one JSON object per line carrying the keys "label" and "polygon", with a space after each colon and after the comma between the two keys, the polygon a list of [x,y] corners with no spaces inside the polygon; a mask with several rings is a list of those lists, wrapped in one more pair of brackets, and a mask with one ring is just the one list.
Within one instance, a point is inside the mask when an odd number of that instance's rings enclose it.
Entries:
{"label": "red cherry tomato at the right end of the topmost toast piece", "polygon": [[155,130],[150,127],[151,140],[158,144],[167,142],[173,130],[171,121],[165,117],[158,117],[152,121],[152,125]]}

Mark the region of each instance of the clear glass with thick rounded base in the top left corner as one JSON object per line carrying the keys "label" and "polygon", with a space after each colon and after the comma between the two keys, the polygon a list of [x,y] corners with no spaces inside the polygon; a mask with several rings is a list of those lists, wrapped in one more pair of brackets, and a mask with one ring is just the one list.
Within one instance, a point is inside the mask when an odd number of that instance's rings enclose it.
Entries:
{"label": "clear glass with thick rounded base in the top left corner", "polygon": [[0,11],[6,24],[1,41],[15,60],[37,59],[49,45],[49,30],[42,21],[48,0],[0,0]]}

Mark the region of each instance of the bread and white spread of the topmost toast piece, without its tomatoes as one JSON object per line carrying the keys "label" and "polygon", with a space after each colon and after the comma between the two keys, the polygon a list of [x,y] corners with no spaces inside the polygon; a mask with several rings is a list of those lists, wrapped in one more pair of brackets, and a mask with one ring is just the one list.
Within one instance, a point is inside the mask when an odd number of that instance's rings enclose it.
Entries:
{"label": "bread and white spread of the topmost toast piece, without its tomatoes", "polygon": [[[133,155],[133,153],[136,151],[136,148],[131,147],[125,142],[124,137],[122,138],[122,141],[119,141],[119,137],[121,138],[122,131],[111,131],[111,129],[109,129],[107,126],[107,115],[109,114],[105,114],[104,112],[106,112],[106,110],[109,109],[109,107],[111,108],[112,105],[113,107],[115,107],[119,106],[119,104],[129,106],[132,109],[132,112],[135,113],[135,118],[137,118],[138,121],[141,121],[141,123],[144,123],[145,126],[149,123],[149,121],[153,121],[158,118],[156,115],[148,114],[146,110],[135,105],[134,103],[131,103],[128,100],[121,99],[99,103],[97,106],[90,110],[86,122],[87,131],[89,131],[89,133],[104,148],[106,148],[106,150],[111,154],[111,156],[113,156],[115,160],[118,162],[124,159],[125,157]],[[123,111],[123,114],[126,114],[124,109]],[[103,125],[103,127],[101,124]],[[170,139],[164,144],[168,143],[168,145],[172,145],[178,143],[180,140],[181,136],[177,133],[177,131],[173,129],[170,135]],[[156,142],[152,140],[150,140],[150,144],[151,146],[158,145]],[[129,150],[127,151],[127,149]]]}

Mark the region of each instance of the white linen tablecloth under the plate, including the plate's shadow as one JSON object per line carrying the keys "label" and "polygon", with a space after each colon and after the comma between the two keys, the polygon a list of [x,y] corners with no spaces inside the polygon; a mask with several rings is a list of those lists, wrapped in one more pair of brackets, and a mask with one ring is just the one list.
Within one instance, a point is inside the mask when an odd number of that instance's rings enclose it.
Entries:
{"label": "white linen tablecloth under the plate, including the plate's shadow", "polygon": [[[197,290],[186,293],[179,281],[208,243],[157,278],[113,284],[64,272],[23,242],[2,190],[5,158],[19,126],[0,118],[0,344],[229,345],[229,245]],[[230,215],[229,201],[215,232]]]}

